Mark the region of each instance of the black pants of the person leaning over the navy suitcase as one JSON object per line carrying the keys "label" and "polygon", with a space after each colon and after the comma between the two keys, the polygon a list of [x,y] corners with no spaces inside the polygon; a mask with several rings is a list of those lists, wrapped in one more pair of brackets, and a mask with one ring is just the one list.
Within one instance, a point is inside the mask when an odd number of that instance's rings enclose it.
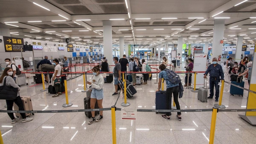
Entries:
{"label": "black pants of the person leaning over the navy suitcase", "polygon": [[[172,101],[171,101],[171,100],[172,100],[172,93],[173,93],[174,102],[175,102],[175,104],[176,104],[176,108],[177,108],[177,109],[180,109],[180,104],[179,104],[179,101],[178,101],[178,97],[179,97],[179,85],[166,89],[166,93],[165,93],[165,96],[166,96],[166,100],[165,100],[166,109],[171,109],[171,108],[170,108],[170,102],[172,102]],[[178,114],[178,115],[181,115],[181,112],[178,112],[177,114]],[[166,113],[166,116],[170,116],[170,112],[167,112],[167,113]]]}

